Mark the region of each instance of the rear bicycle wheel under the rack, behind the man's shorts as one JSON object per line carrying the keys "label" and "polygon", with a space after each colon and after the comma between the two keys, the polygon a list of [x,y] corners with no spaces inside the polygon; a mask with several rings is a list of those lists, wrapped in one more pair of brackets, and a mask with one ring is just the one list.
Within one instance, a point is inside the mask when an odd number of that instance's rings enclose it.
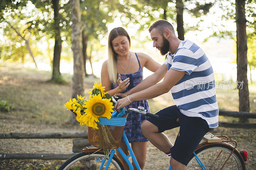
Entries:
{"label": "rear bicycle wheel under the rack, behind the man's shorts", "polygon": [[[207,170],[217,170],[222,167],[232,151],[233,148],[231,146],[220,143],[203,146],[202,148],[197,149],[195,153]],[[187,163],[187,168],[189,170],[201,169],[195,158],[196,157],[194,154],[190,156],[190,159]],[[217,160],[214,162],[215,159]],[[227,163],[223,167],[223,170],[226,169],[245,170],[244,159],[236,150],[232,153]]]}

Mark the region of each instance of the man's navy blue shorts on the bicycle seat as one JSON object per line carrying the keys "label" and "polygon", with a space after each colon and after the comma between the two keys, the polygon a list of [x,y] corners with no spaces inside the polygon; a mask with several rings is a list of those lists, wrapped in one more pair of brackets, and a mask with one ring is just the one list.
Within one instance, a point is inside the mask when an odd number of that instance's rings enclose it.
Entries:
{"label": "man's navy blue shorts on the bicycle seat", "polygon": [[[204,135],[211,129],[200,117],[188,117],[180,112],[176,105],[159,110],[158,119],[147,118],[158,127],[159,132],[180,126],[180,132],[171,150],[172,158],[186,165]],[[179,122],[176,119],[179,118]]]}

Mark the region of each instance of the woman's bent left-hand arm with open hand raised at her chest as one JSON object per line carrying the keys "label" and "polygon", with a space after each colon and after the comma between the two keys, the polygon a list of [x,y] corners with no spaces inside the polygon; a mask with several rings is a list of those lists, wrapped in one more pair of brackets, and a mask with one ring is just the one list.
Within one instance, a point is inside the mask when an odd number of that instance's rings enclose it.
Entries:
{"label": "woman's bent left-hand arm with open hand raised at her chest", "polygon": [[116,93],[123,92],[126,89],[126,87],[130,84],[129,83],[129,78],[126,78],[124,81],[122,81],[120,76],[119,76],[119,78],[117,80],[117,83],[118,83],[119,86],[112,89],[111,82],[109,80],[109,75],[108,75],[107,61],[105,61],[102,64],[101,76],[100,77],[101,77],[102,86],[105,86],[104,92],[108,92],[111,96],[113,96]]}

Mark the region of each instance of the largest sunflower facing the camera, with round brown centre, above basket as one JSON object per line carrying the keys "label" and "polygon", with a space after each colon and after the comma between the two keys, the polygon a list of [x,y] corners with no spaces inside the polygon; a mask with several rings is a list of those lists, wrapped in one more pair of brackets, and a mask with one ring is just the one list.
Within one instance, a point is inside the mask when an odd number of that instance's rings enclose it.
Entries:
{"label": "largest sunflower facing the camera, with round brown centre, above basket", "polygon": [[[92,98],[87,100],[85,103],[84,110],[85,114],[79,119],[81,122],[85,122],[87,126],[98,129],[96,122],[99,122],[99,117],[111,118],[111,112],[114,112],[113,103],[110,102],[111,99],[102,99],[101,95],[92,95]],[[83,124],[82,123],[82,124]]]}

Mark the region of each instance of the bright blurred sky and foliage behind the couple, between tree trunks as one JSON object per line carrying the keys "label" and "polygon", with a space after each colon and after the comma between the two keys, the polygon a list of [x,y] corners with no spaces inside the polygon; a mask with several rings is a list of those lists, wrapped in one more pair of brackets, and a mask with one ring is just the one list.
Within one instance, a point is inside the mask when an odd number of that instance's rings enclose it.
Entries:
{"label": "bright blurred sky and foliage behind the couple, between tree trunks", "polygon": [[[149,23],[153,23],[155,20],[161,19],[164,10],[159,7],[150,9],[149,6],[144,6],[144,10],[137,11],[134,7],[128,7],[127,9],[129,9],[129,11],[127,11],[133,15],[133,19],[129,19],[126,13],[120,12],[118,9],[111,11],[110,7],[108,8],[108,2],[107,0],[100,2],[99,10],[105,12],[111,19],[106,20],[106,18],[97,20],[97,22],[105,24],[106,29],[102,31],[102,28],[95,27],[94,34],[96,33],[96,38],[90,38],[88,41],[87,55],[91,56],[94,75],[100,77],[100,69],[98,68],[101,68],[102,63],[107,59],[106,45],[108,32],[118,26],[123,26],[132,37],[132,51],[146,53],[157,62],[163,63],[164,56],[161,56],[159,51],[156,48],[153,48],[148,33],[148,27],[150,26]],[[124,5],[124,7],[129,6],[129,4],[131,6],[138,5],[138,2],[136,1],[120,0],[119,2],[120,5]],[[204,1],[198,2],[200,3]],[[214,3],[215,1],[208,0],[205,2]],[[81,4],[82,3],[83,0],[81,1]],[[220,77],[222,80],[235,81],[236,23],[235,19],[232,17],[227,19],[228,12],[232,13],[232,10],[234,11],[235,7],[232,5],[230,6],[230,4],[232,3],[229,1],[223,1],[221,3],[215,2],[209,12],[206,15],[201,15],[200,17],[195,17],[190,11],[188,11],[189,9],[195,8],[195,4],[184,4],[188,10],[184,10],[183,12],[183,21],[185,28],[185,40],[188,39],[190,41],[194,41],[197,45],[203,48],[212,63],[215,75]],[[62,27],[61,40],[63,41],[60,72],[73,74],[73,53],[70,41],[71,32],[65,31],[68,28],[70,29],[72,22],[71,18],[66,14],[68,13],[68,10],[65,9],[65,5],[69,5],[68,0],[61,0],[60,7],[64,7],[60,8],[59,13],[66,17],[64,17],[65,21],[60,20],[60,26]],[[87,2],[84,5],[81,5],[82,15],[86,16],[86,11],[88,11],[89,8],[92,8],[89,5],[93,4],[89,4]],[[225,10],[225,5],[230,9]],[[169,15],[174,15],[175,12],[173,9],[175,9],[175,1],[168,2],[166,8],[170,11]],[[1,60],[20,63],[23,64],[24,67],[35,68],[35,63],[26,49],[25,40],[22,40],[13,29],[9,28],[8,23],[11,23],[18,32],[23,32],[22,35],[27,39],[31,36],[29,43],[34,53],[38,70],[52,71],[51,62],[55,41],[54,31],[49,29],[51,29],[50,24],[53,22],[53,15],[54,13],[51,5],[45,5],[42,10],[42,8],[36,8],[36,5],[31,1],[27,1],[25,7],[4,12],[4,20],[0,23],[0,46],[2,47]],[[151,18],[148,18],[149,15],[152,15]],[[38,22],[38,18],[42,23],[36,23]],[[248,15],[246,19],[251,22],[255,20],[255,18]],[[137,22],[134,22],[135,20]],[[177,27],[175,17],[167,17],[167,20],[173,24],[174,28]],[[87,21],[84,20],[83,22]],[[30,29],[27,29],[28,27]],[[35,31],[29,32],[29,30],[33,30],[35,27],[37,27]],[[141,27],[144,28],[142,29]],[[248,32],[250,31],[251,30],[248,28]],[[220,32],[224,32],[224,36]],[[229,34],[225,34],[227,32]],[[223,37],[220,38],[220,36]],[[248,45],[248,53],[255,54],[255,48],[253,49],[253,46]],[[88,74],[92,74],[89,61],[86,63],[86,71]],[[150,71],[146,69],[144,70],[144,78],[150,74]],[[252,77],[252,81],[256,81],[255,66],[251,67],[251,71],[248,66],[248,79],[249,77]]]}

